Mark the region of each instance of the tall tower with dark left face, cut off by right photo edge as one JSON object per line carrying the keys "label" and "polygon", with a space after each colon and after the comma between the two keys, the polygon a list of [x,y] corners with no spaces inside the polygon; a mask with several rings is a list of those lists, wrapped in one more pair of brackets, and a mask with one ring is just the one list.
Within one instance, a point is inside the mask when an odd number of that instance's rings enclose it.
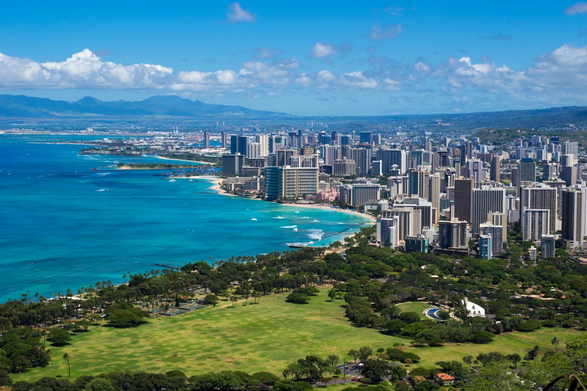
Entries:
{"label": "tall tower with dark left face, cut off by right photo edge", "polygon": [[561,237],[568,249],[581,248],[587,234],[587,189],[577,185],[564,188],[562,195]]}

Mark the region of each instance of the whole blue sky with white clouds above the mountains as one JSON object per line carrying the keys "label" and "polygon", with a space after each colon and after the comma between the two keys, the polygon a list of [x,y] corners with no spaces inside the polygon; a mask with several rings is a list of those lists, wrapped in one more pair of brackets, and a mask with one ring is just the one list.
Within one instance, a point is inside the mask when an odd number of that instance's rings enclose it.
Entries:
{"label": "whole blue sky with white clouds above the mountains", "polygon": [[587,106],[586,41],[572,1],[9,2],[0,93],[302,115]]}

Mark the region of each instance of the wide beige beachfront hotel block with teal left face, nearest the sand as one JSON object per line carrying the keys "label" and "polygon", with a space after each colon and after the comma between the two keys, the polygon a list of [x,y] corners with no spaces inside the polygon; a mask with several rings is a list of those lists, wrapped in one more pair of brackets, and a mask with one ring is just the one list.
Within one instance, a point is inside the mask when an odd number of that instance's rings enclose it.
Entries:
{"label": "wide beige beachfront hotel block with teal left face, nearest the sand", "polygon": [[265,167],[265,196],[294,198],[318,193],[318,168],[268,166]]}

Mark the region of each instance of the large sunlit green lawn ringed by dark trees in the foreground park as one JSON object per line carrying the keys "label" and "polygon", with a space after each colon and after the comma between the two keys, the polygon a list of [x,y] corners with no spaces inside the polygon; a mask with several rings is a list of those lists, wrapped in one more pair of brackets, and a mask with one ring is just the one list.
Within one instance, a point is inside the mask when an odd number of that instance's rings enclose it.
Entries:
{"label": "large sunlit green lawn ringed by dark trees in the foreground park", "polygon": [[[350,348],[369,345],[375,351],[394,342],[409,345],[408,339],[380,334],[374,329],[356,328],[345,318],[342,300],[329,301],[328,289],[309,304],[285,302],[287,294],[262,297],[259,304],[237,305],[221,302],[175,318],[149,319],[136,328],[90,327],[76,335],[70,345],[53,348],[53,368],[34,368],[14,375],[14,380],[42,376],[67,376],[63,353],[69,353],[72,378],[97,375],[113,369],[167,372],[183,370],[188,376],[217,370],[268,370],[281,376],[289,362],[308,354],[336,353],[344,358]],[[155,329],[158,327],[158,331]],[[534,345],[550,349],[553,336],[568,339],[578,331],[542,328],[528,334],[513,332],[497,336],[490,344],[446,344],[435,348],[408,348],[422,358],[419,366],[432,368],[434,362],[499,350],[524,355]],[[33,379],[31,379],[33,376]]]}

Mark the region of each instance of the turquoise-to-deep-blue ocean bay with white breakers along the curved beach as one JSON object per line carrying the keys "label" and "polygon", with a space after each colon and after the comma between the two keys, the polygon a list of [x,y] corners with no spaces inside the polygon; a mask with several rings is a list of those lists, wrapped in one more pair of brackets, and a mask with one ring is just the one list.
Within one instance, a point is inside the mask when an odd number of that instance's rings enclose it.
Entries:
{"label": "turquoise-to-deep-blue ocean bay with white breakers along the curved beach", "polygon": [[329,236],[366,222],[222,195],[203,179],[154,176],[165,171],[106,168],[162,162],[156,158],[78,155],[78,145],[36,144],[54,140],[65,139],[0,135],[0,301],[27,290],[48,296],[96,281],[120,283],[127,271],[161,268],[154,263],[181,266],[289,250],[291,243],[328,244],[342,240]]}

